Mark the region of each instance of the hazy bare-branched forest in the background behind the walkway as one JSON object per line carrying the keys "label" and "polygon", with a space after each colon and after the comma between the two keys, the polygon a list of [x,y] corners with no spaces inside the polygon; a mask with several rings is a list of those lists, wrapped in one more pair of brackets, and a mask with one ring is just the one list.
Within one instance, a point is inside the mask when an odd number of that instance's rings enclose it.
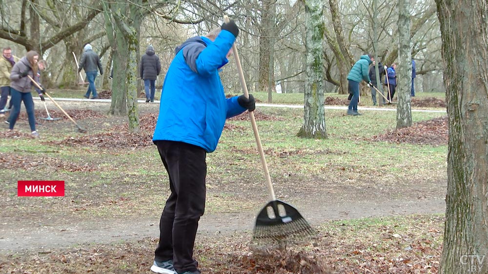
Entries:
{"label": "hazy bare-branched forest in the background behind the walkway", "polygon": [[[365,53],[374,53],[390,65],[398,57],[398,7],[396,1],[328,0],[324,6],[324,80],[326,92],[347,93],[340,88],[350,67]],[[373,5],[377,6],[373,29]],[[23,56],[36,50],[48,63],[44,85],[73,88],[79,79],[73,58],[86,43],[101,55],[105,72],[114,68],[114,84],[130,83],[140,56],[153,45],[163,73],[174,48],[188,37],[204,35],[222,24],[228,14],[241,28],[237,47],[249,91],[304,92],[305,4],[303,1],[175,1],[175,0],[19,0],[0,3],[0,45]],[[417,63],[417,92],[444,91],[441,35],[433,0],[410,2],[412,58]],[[129,54],[129,48],[137,49]],[[132,62],[131,62],[132,61]],[[270,69],[271,68],[271,69]],[[110,73],[98,78],[103,89],[112,89]],[[224,88],[240,93],[234,66],[221,75]],[[137,78],[137,77],[136,77]],[[129,81],[126,81],[129,80]],[[269,85],[268,83],[274,83]],[[139,85],[139,83],[138,83]],[[117,85],[127,89],[123,85]],[[272,101],[271,94],[268,101]],[[122,110],[123,112],[123,110]]]}

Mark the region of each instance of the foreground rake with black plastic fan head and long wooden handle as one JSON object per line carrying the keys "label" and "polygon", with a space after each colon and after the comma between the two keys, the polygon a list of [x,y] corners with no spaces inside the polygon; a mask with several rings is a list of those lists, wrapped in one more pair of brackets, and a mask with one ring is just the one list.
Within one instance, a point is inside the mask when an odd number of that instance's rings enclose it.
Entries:
{"label": "foreground rake with black plastic fan head and long wooden handle", "polygon": [[[230,21],[229,17],[225,15],[224,21],[225,23],[228,23]],[[249,92],[247,91],[247,86],[245,84],[241,61],[239,59],[239,55],[237,54],[237,47],[235,44],[232,45],[232,52],[234,54],[234,58],[236,59],[237,71],[239,72],[239,78],[241,80],[244,96],[249,98]],[[256,217],[253,237],[255,239],[282,240],[291,236],[312,234],[312,228],[297,209],[284,201],[276,200],[266,159],[264,158],[263,146],[261,145],[261,138],[259,137],[254,112],[250,111],[248,113],[249,119],[251,120],[252,129],[254,131],[256,145],[258,146],[261,164],[263,165],[269,196],[271,198],[271,201],[263,207]]]}

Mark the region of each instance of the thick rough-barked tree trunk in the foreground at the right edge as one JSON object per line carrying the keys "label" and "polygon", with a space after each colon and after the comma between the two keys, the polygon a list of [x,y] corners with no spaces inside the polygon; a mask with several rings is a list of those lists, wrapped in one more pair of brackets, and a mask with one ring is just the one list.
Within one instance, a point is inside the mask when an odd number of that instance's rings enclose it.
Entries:
{"label": "thick rough-barked tree trunk in the foreground at the right edge", "polygon": [[488,273],[488,5],[436,0],[449,145],[440,274]]}

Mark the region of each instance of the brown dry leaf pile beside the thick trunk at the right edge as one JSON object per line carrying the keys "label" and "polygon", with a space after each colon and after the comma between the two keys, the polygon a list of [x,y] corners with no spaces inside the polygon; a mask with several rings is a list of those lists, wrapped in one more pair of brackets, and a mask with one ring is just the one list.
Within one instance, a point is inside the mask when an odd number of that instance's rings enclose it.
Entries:
{"label": "brown dry leaf pile beside the thick trunk at the right edge", "polygon": [[370,140],[415,145],[447,145],[449,137],[447,116],[434,118],[413,124],[409,128],[390,130],[382,135],[375,135]]}

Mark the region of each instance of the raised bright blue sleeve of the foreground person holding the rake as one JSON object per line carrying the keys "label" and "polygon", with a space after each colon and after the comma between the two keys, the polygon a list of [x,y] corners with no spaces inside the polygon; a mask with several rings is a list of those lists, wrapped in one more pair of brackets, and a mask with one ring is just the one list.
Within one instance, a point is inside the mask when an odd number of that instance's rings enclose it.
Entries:
{"label": "raised bright blue sleeve of the foreground person holding the rake", "polygon": [[195,60],[196,68],[201,75],[210,75],[227,62],[227,53],[236,37],[223,30],[215,41],[207,45]]}

